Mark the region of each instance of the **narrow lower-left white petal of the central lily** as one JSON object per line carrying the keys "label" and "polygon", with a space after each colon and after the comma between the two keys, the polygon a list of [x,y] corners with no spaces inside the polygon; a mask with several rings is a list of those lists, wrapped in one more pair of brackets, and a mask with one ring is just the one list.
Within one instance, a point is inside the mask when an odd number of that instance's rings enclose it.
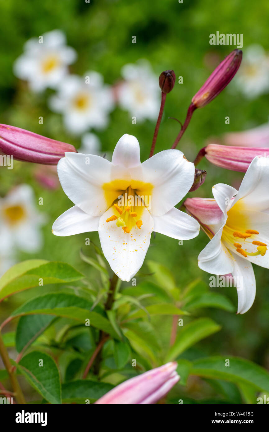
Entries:
{"label": "narrow lower-left white petal of the central lily", "polygon": [[52,232],[54,235],[66,236],[98,231],[99,219],[99,216],[89,216],[79,207],[73,206],[56,219]]}

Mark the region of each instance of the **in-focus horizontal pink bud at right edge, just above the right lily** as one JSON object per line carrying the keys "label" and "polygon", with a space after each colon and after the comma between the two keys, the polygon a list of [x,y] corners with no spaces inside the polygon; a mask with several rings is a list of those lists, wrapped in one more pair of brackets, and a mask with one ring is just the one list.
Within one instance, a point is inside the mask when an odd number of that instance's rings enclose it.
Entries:
{"label": "in-focus horizontal pink bud at right edge, just above the right lily", "polygon": [[204,148],[206,159],[214,165],[232,171],[246,172],[256,156],[269,156],[269,148],[234,147],[209,144]]}

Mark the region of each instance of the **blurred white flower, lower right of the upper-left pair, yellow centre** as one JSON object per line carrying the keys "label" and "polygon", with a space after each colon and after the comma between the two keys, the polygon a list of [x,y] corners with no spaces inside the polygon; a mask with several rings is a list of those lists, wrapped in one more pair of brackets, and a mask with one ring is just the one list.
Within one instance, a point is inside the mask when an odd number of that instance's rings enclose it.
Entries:
{"label": "blurred white flower, lower right of the upper-left pair, yellow centre", "polygon": [[111,88],[104,84],[97,72],[66,76],[58,94],[50,98],[50,108],[64,115],[66,129],[83,133],[89,128],[103,129],[108,124],[108,113],[114,108]]}

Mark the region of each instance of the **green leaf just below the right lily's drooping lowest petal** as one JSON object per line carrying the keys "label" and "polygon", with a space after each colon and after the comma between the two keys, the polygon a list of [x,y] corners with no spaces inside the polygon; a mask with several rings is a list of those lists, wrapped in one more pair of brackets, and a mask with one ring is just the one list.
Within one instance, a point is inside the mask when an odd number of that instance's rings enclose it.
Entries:
{"label": "green leaf just below the right lily's drooping lowest petal", "polygon": [[194,295],[188,299],[184,307],[194,310],[197,308],[220,308],[228,312],[234,312],[234,305],[225,297],[217,292],[206,292],[200,295]]}

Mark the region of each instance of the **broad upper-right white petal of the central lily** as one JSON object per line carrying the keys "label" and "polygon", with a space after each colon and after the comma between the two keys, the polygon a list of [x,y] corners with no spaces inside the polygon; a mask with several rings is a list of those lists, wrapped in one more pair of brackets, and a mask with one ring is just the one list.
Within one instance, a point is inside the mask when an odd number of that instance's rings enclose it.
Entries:
{"label": "broad upper-right white petal of the central lily", "polygon": [[[144,195],[139,182],[153,186],[151,213],[162,216],[171,210],[190,190],[194,180],[194,165],[179,150],[163,150],[147,159],[139,167],[131,168],[133,189]],[[138,187],[136,187],[136,181]],[[146,189],[149,191],[150,186]]]}

